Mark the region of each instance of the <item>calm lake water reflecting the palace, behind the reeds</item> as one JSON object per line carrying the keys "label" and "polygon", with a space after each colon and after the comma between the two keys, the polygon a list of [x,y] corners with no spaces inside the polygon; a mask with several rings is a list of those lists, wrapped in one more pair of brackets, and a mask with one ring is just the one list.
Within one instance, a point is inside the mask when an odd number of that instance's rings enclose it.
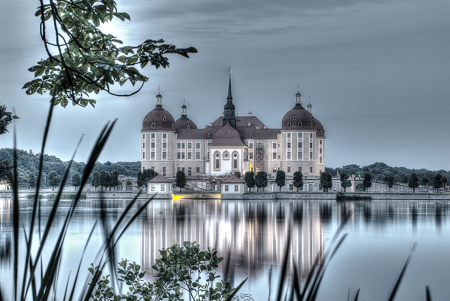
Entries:
{"label": "calm lake water reflecting the palace, behind the reeds", "polygon": [[[129,201],[108,201],[104,212],[111,223]],[[52,204],[53,201],[42,201],[43,220]],[[50,233],[51,242],[55,241],[70,204],[71,201],[62,202]],[[20,207],[21,223],[27,228],[32,201],[21,200]],[[0,210],[0,280],[4,297],[10,299],[11,200],[0,199]],[[99,212],[99,201],[80,202],[64,244],[58,286],[65,287],[71,270],[73,277]],[[358,288],[359,300],[386,300],[414,242],[418,245],[396,300],[425,300],[426,285],[431,289],[432,300],[450,300],[450,201],[155,200],[121,238],[117,256],[136,261],[151,273],[151,265],[159,258],[157,250],[174,243],[196,241],[203,249],[215,247],[221,256],[227,256],[230,250],[229,278],[236,286],[248,277],[240,292],[251,294],[255,300],[267,300],[271,288],[273,300],[289,224],[292,231],[289,256],[297,263],[304,280],[320,247],[325,244],[325,250],[329,248],[329,238],[347,213],[351,218],[342,233],[348,236],[324,275],[319,300],[347,300],[349,290],[352,295]],[[37,235],[34,238],[37,242]],[[82,261],[84,277],[90,263],[96,260],[102,240],[98,227]],[[25,253],[24,238],[20,246]],[[51,243],[47,245],[45,258],[50,250]],[[23,270],[20,264],[19,261],[19,270]],[[225,275],[225,265],[219,274]],[[147,280],[151,280],[151,274]]]}

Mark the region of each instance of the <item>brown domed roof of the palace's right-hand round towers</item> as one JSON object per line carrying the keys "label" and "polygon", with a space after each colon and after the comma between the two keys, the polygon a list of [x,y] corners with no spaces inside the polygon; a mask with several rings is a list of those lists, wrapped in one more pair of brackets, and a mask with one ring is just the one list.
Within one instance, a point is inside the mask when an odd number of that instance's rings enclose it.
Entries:
{"label": "brown domed roof of the palace's right-hand round towers", "polygon": [[[295,117],[295,119],[294,119]],[[291,123],[291,127],[288,128],[288,122]],[[298,127],[298,123],[302,122],[302,127]],[[312,122],[312,128],[310,128],[309,123]],[[317,125],[317,128],[315,126]],[[320,123],[319,120],[315,119],[312,114],[305,108],[302,107],[302,105],[297,104],[293,109],[290,109],[288,113],[284,114],[283,120],[281,121],[281,129],[282,130],[322,130],[322,135],[324,136],[324,126],[322,123]],[[319,132],[317,132],[319,134]],[[319,136],[319,135],[317,135]]]}

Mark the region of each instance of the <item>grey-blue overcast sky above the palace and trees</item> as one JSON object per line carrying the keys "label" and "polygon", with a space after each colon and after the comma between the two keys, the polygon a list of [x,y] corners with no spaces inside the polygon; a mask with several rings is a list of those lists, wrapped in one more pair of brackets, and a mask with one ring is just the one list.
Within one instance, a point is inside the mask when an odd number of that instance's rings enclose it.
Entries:
{"label": "grey-blue overcast sky above the palace and trees", "polygon": [[[27,96],[27,68],[46,58],[38,5],[0,0],[0,102],[13,110],[17,147],[40,152],[49,96]],[[93,95],[95,108],[58,106],[45,153],[86,161],[104,124],[117,124],[99,157],[140,160],[140,130],[161,87],[163,107],[198,126],[217,119],[226,101],[231,66],[238,115],[252,111],[281,128],[302,102],[324,125],[327,167],[384,162],[408,168],[450,169],[449,1],[117,1],[131,21],[102,26],[138,45],[163,38],[194,46],[190,59],[170,55],[170,68],[147,66],[144,88],[131,97]],[[130,87],[117,85],[126,93]],[[13,146],[13,127],[0,148]]]}

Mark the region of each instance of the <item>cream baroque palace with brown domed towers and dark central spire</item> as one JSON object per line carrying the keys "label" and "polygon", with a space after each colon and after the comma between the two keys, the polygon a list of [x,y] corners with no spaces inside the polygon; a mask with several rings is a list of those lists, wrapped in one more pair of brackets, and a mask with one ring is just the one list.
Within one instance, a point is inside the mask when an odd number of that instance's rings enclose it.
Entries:
{"label": "cream baroque palace with brown domed towers and dark central spire", "polygon": [[263,170],[270,177],[281,169],[287,178],[297,170],[318,177],[325,170],[325,131],[312,115],[311,103],[305,109],[301,97],[297,91],[294,107],[284,114],[280,128],[268,128],[252,112],[235,115],[230,74],[222,116],[198,128],[189,119],[184,101],[175,120],[162,107],[158,88],[156,106],[142,122],[141,170],[154,169],[167,177],[177,170],[188,177]]}

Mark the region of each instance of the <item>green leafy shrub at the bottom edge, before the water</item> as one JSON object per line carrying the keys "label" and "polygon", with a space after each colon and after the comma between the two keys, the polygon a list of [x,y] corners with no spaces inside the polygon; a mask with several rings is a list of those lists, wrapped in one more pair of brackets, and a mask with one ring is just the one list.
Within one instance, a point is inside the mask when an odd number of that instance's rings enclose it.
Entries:
{"label": "green leafy shrub at the bottom edge, before the water", "polygon": [[[224,259],[217,256],[215,249],[200,251],[196,242],[184,242],[183,246],[173,245],[159,250],[161,259],[157,259],[152,268],[157,271],[153,282],[143,280],[146,271],[135,262],[121,260],[118,263],[119,281],[128,286],[128,291],[116,295],[109,286],[109,276],[99,278],[90,298],[93,301],[121,299],[131,300],[183,300],[188,294],[192,300],[231,300],[245,283],[245,279],[237,288],[231,287],[229,280],[219,279],[216,275],[219,263]],[[99,266],[93,264],[89,268],[92,275],[99,272]],[[217,280],[216,280],[217,279]]]}

